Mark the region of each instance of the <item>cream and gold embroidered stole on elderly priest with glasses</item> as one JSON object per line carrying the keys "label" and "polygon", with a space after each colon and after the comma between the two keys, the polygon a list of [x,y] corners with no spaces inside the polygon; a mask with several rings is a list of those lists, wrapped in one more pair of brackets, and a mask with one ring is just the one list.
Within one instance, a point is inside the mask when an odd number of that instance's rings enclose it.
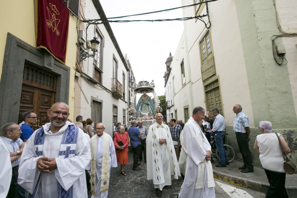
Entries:
{"label": "cream and gold embroidered stole on elderly priest with glasses", "polygon": [[[108,191],[109,186],[109,135],[103,132],[103,154],[101,167],[101,186],[100,193]],[[97,135],[91,138],[91,192],[96,196],[96,151],[97,151]],[[98,145],[100,146],[100,145]]]}

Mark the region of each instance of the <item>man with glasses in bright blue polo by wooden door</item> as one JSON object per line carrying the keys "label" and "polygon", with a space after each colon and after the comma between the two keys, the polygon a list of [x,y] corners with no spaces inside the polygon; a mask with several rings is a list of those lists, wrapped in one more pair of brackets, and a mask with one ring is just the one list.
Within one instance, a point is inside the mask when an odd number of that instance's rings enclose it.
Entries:
{"label": "man with glasses in bright blue polo by wooden door", "polygon": [[32,126],[36,123],[37,121],[37,115],[36,113],[33,113],[31,111],[26,111],[23,114],[24,118],[24,124],[20,127],[20,130],[22,130],[22,134],[20,134],[20,139],[23,140],[24,142],[27,142],[29,137],[33,134],[34,130]]}

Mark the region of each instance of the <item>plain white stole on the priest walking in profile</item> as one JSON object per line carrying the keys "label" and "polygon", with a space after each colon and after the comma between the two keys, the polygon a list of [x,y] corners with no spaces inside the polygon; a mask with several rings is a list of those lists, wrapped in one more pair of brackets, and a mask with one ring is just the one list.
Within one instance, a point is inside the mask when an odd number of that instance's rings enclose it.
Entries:
{"label": "plain white stole on the priest walking in profile", "polygon": [[[196,133],[196,139],[199,143],[199,145],[201,146],[201,148],[203,148],[203,141],[202,141],[202,136],[204,136],[204,134],[202,133],[200,127],[197,126],[196,123],[194,123],[198,129],[198,132]],[[206,137],[204,136],[204,139],[206,139]],[[186,150],[186,147],[185,147]],[[204,164],[206,163],[206,164]],[[199,167],[199,171],[198,171],[198,176],[197,176],[197,180],[196,180],[196,184],[195,184],[195,189],[200,189],[203,188],[204,186],[204,172],[205,172],[205,167],[206,167],[206,172],[207,172],[207,186],[208,188],[210,187],[214,187],[215,183],[214,183],[214,175],[212,172],[212,165],[210,161],[207,160],[203,160],[198,164]]]}

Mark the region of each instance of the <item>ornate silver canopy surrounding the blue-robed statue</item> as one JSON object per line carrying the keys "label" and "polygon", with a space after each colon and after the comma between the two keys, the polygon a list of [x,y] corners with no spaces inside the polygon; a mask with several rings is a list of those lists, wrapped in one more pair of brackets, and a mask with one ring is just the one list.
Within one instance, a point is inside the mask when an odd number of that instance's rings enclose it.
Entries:
{"label": "ornate silver canopy surrounding the blue-robed statue", "polygon": [[[149,96],[149,93],[153,94],[154,102],[151,99],[151,96]],[[136,102],[137,94],[142,94],[138,99],[138,102]],[[160,100],[155,93],[154,80],[152,80],[151,83],[147,80],[139,81],[138,84],[133,83],[132,97],[130,98],[130,109],[134,109],[135,113],[133,115],[130,114],[130,120],[136,118],[141,120],[141,118],[145,119],[145,117],[146,119],[154,117],[156,115],[155,109],[160,103],[159,101]]]}

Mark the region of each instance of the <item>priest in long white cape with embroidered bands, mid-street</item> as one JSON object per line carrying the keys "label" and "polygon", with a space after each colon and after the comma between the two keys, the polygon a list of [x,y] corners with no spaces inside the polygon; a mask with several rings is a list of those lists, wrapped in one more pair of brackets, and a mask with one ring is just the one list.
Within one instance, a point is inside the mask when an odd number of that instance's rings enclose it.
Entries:
{"label": "priest in long white cape with embroidered bands, mid-street", "polygon": [[163,115],[157,113],[146,137],[147,179],[153,180],[157,197],[162,196],[164,186],[171,185],[171,175],[175,179],[181,176],[170,129],[162,122]]}

